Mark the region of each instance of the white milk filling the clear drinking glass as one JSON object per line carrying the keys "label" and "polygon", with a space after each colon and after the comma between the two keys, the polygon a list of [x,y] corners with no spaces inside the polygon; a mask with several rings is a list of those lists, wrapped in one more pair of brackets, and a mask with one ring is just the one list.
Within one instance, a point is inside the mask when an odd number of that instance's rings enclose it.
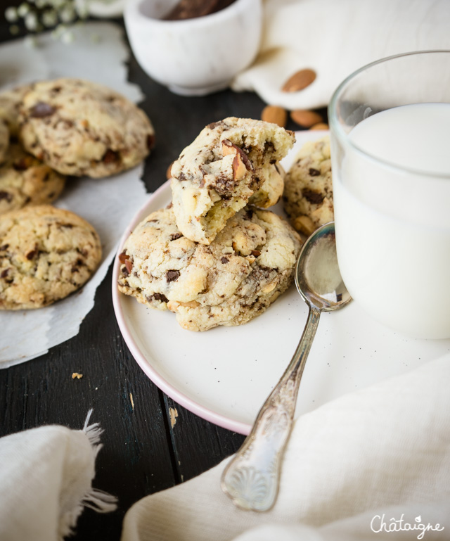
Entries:
{"label": "white milk filling the clear drinking glass", "polygon": [[393,329],[450,338],[450,103],[385,110],[349,139],[342,164],[333,160],[338,261],[349,292]]}

